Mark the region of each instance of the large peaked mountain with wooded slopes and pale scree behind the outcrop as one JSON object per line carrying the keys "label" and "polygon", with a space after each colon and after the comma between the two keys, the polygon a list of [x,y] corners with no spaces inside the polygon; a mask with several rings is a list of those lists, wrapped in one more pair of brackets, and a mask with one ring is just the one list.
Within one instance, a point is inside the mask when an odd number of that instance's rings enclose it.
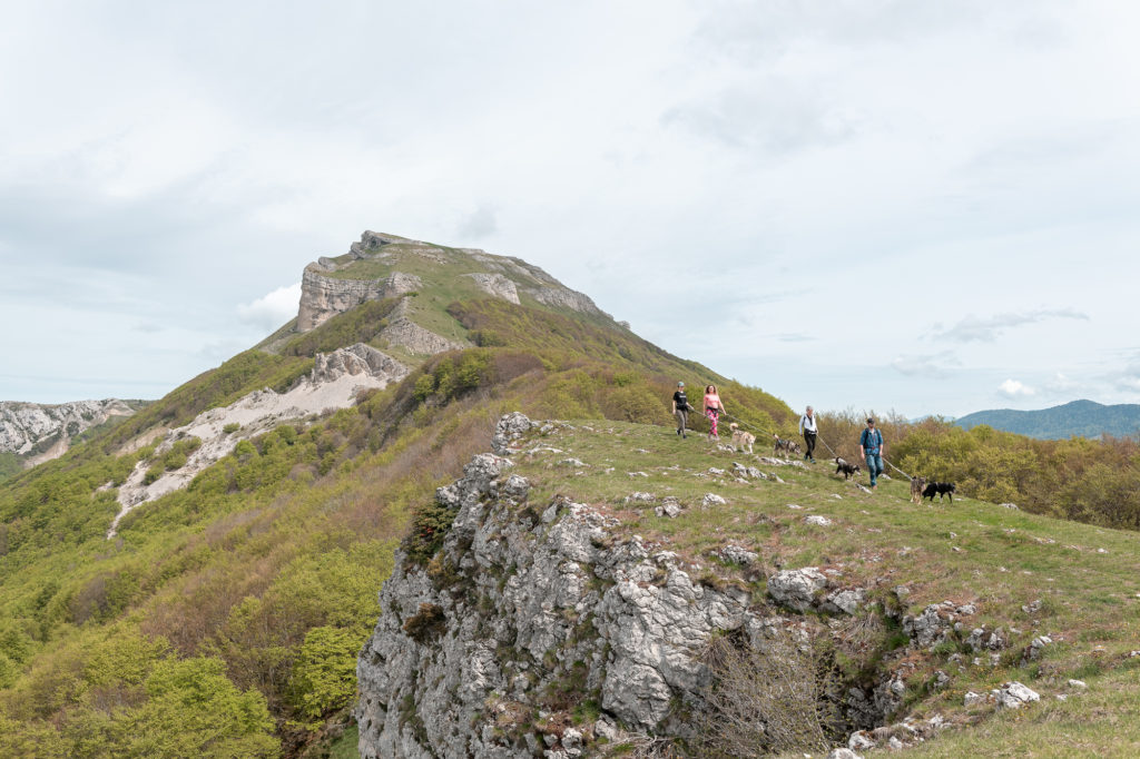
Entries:
{"label": "large peaked mountain with wooded slopes and pale scree behind the outcrop", "polygon": [[[668,424],[684,379],[793,425],[536,268],[381,248],[319,264],[344,283],[321,291],[340,300],[319,324],[292,320],[0,487],[0,756],[342,751],[413,509],[499,415]],[[412,276],[415,291],[376,285]]]}

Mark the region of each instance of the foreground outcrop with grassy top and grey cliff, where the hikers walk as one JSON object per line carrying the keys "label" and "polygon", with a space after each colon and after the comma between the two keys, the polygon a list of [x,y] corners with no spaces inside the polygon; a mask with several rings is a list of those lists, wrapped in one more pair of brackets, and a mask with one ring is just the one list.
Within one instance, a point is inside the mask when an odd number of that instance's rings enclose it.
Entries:
{"label": "foreground outcrop with grassy top and grey cliff, where the hikers walk", "polygon": [[363,757],[1140,749],[1140,534],[653,426],[498,432],[397,555]]}

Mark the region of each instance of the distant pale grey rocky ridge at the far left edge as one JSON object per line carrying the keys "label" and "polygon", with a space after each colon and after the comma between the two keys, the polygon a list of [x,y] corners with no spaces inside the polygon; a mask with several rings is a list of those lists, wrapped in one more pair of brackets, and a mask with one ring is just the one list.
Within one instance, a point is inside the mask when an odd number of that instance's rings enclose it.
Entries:
{"label": "distant pale grey rocky ridge at the far left edge", "polygon": [[[35,456],[59,449],[67,450],[68,441],[84,430],[103,424],[113,416],[135,413],[116,399],[41,405],[0,401],[0,451],[32,455],[39,460],[55,456]],[[62,443],[62,446],[60,446]]]}

